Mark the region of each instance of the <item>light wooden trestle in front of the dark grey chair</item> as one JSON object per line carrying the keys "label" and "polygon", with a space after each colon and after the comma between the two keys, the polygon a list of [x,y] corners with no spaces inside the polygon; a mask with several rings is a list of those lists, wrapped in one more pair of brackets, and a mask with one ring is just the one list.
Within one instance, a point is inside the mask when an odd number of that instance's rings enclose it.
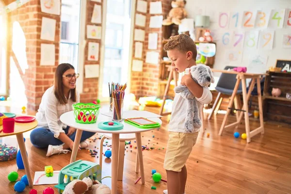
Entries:
{"label": "light wooden trestle in front of the dark grey chair", "polygon": [[[229,104],[228,104],[228,109],[226,111],[226,115],[223,119],[221,128],[219,130],[219,135],[222,135],[222,131],[223,129],[227,129],[227,128],[233,128],[233,127],[238,127],[239,124],[241,123],[242,120],[242,115],[244,113],[244,121],[245,121],[245,132],[246,132],[246,142],[250,143],[251,142],[251,137],[257,135],[258,133],[264,134],[264,121],[263,121],[263,106],[262,106],[262,98],[261,98],[261,88],[260,88],[260,76],[262,74],[244,74],[244,73],[240,73],[237,75],[237,81],[233,90],[233,93],[231,95]],[[246,79],[251,78],[251,84],[248,90],[248,93],[246,93]],[[242,97],[243,97],[243,106],[242,106],[242,110],[237,110],[240,111],[241,113],[239,114],[239,116],[237,117],[237,121],[229,124],[226,126],[226,121],[227,121],[227,117],[230,113],[230,110],[232,108],[233,102],[234,102],[234,98],[236,96],[237,90],[239,88],[239,84],[240,81],[242,81]],[[249,123],[249,115],[248,115],[248,100],[251,96],[251,92],[254,88],[255,85],[255,81],[257,81],[257,88],[258,88],[258,101],[259,101],[259,122],[260,122],[260,127],[257,129],[254,129],[252,131],[250,131],[250,123]]]}

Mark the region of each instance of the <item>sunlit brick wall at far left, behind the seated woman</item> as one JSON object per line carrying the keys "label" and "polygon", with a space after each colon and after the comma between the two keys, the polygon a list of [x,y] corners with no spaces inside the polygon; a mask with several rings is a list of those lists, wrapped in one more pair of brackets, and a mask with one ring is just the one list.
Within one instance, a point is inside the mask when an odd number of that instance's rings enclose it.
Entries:
{"label": "sunlit brick wall at far left, behind the seated woman", "polygon": [[[7,0],[9,4],[13,1]],[[56,19],[55,40],[46,41],[40,39],[42,17]],[[21,61],[16,58],[11,45],[13,40],[13,24],[18,22],[24,32],[26,39],[26,57],[28,69],[25,74],[21,72]],[[60,42],[60,16],[41,12],[40,1],[31,0],[21,7],[8,13],[8,55],[13,58],[14,63],[22,77],[27,96],[27,108],[37,110],[43,93],[53,84],[53,75],[58,65],[59,42]],[[40,45],[42,43],[55,45],[55,66],[40,66]],[[9,60],[8,60],[9,63]],[[8,79],[7,79],[8,80]]]}

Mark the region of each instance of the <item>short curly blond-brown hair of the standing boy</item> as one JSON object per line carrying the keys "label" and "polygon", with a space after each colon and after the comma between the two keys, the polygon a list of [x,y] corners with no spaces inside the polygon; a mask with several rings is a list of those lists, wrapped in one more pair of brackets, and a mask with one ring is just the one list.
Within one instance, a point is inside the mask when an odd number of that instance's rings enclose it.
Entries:
{"label": "short curly blond-brown hair of the standing boy", "polygon": [[194,41],[190,36],[186,34],[179,34],[176,36],[171,36],[169,41],[164,45],[163,49],[165,51],[178,49],[181,52],[191,51],[193,54],[193,59],[196,61],[197,49]]}

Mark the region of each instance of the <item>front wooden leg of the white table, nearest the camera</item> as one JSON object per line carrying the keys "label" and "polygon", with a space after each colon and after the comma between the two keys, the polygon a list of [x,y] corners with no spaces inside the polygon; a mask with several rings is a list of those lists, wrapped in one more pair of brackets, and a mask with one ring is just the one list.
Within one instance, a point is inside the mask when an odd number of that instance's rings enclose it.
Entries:
{"label": "front wooden leg of the white table, nearest the camera", "polygon": [[117,194],[119,133],[112,134],[112,166],[111,166],[111,193]]}

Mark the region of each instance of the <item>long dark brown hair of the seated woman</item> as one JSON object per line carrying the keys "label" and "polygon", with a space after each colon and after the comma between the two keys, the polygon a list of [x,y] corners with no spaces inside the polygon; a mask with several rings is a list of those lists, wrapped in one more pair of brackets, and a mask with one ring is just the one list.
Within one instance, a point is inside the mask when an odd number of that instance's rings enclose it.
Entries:
{"label": "long dark brown hair of the seated woman", "polygon": [[[64,84],[63,84],[63,74],[68,69],[75,69],[71,64],[60,64],[55,73],[54,87],[55,87],[55,96],[61,104],[68,103],[68,100],[64,95]],[[73,102],[76,102],[76,88],[71,89],[71,98]]]}

